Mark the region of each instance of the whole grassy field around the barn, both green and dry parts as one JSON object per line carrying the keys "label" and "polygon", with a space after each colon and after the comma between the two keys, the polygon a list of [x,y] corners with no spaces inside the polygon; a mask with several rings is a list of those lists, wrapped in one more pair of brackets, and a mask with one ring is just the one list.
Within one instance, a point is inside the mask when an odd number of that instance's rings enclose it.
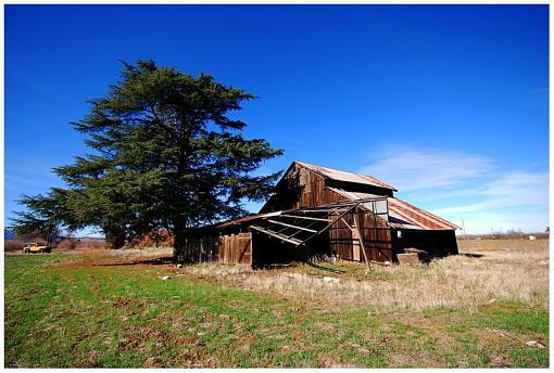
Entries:
{"label": "whole grassy field around the barn, both green and dry parts", "polygon": [[549,366],[547,241],[459,246],[482,256],[366,272],[8,254],[5,366]]}

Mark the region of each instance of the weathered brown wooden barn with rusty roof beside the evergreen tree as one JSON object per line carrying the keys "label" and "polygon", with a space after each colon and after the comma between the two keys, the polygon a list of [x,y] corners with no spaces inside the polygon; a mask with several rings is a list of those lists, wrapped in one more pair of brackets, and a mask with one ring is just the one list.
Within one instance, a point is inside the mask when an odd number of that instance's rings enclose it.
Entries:
{"label": "weathered brown wooden barn with rusty roof beside the evergreen tree", "polygon": [[199,261],[253,266],[325,255],[395,262],[408,247],[457,254],[456,226],[394,192],[369,176],[293,162],[260,214],[197,230],[189,252]]}

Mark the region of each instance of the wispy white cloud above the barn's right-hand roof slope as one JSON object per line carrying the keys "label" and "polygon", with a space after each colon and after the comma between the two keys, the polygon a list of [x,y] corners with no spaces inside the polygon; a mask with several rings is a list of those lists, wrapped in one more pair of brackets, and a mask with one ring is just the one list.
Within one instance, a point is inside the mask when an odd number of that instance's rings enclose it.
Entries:
{"label": "wispy white cloud above the barn's right-hand roof slope", "polygon": [[543,230],[549,223],[549,173],[505,170],[493,159],[463,152],[393,146],[362,168],[396,186],[402,197],[468,233],[491,228]]}

